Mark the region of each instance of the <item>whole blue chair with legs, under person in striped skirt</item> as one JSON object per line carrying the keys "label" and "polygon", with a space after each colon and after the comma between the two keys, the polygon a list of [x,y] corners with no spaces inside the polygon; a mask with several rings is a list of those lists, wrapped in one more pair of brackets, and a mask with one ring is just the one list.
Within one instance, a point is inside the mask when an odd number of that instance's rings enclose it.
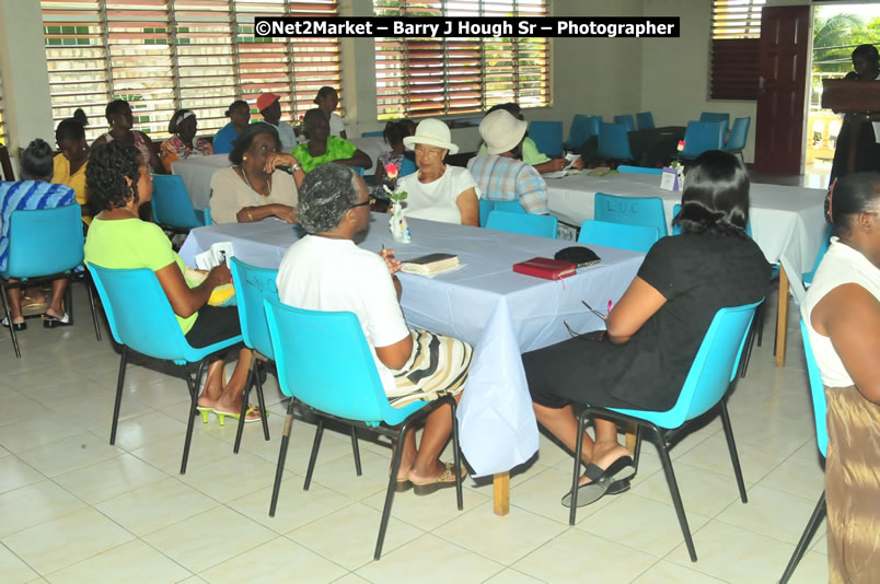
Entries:
{"label": "whole blue chair with legs, under person in striped skirt", "polygon": [[[396,440],[403,439],[410,427],[433,411],[437,407],[449,405],[452,416],[452,446],[454,468],[461,468],[459,449],[459,424],[455,419],[455,399],[442,396],[435,401],[413,401],[402,408],[393,408],[389,402],[375,361],[363,337],[358,317],[350,312],[316,312],[286,306],[280,302],[267,300],[266,315],[269,322],[273,347],[278,365],[278,382],[281,392],[315,410],[320,416],[305,484],[309,489],[312,479],[324,418],[358,424],[371,432]],[[290,427],[293,423],[293,404],[287,408],[285,434],[278,455],[278,468],[271,493],[269,516],[275,516],[278,493],[281,489]],[[400,427],[397,429],[390,427]],[[414,430],[415,431],[415,430]],[[373,559],[382,556],[391,505],[401,468],[403,448],[396,448],[392,457],[385,505],[379,525]],[[461,475],[456,472],[455,495],[459,511],[463,509]]]}

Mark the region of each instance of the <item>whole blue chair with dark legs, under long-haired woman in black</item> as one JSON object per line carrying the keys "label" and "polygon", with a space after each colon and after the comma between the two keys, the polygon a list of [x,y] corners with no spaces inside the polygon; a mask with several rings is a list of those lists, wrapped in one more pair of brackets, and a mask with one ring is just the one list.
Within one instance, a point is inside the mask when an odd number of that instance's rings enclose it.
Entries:
{"label": "whole blue chair with dark legs, under long-haired woman in black", "polygon": [[[697,350],[691,371],[682,386],[682,393],[675,405],[668,411],[647,411],[623,408],[599,408],[588,405],[578,419],[578,434],[583,435],[587,418],[598,416],[618,422],[635,423],[636,449],[634,463],[638,470],[638,458],[641,449],[641,434],[648,431],[650,437],[657,444],[660,454],[660,462],[667,475],[669,491],[672,502],[675,505],[675,513],[679,516],[679,525],[684,535],[684,542],[691,561],[696,561],[696,550],[691,537],[691,529],[687,527],[687,518],[684,515],[684,505],[679,493],[679,484],[675,481],[675,474],[672,470],[672,460],[669,457],[669,444],[673,437],[694,418],[718,408],[721,413],[721,422],[725,428],[727,446],[730,451],[730,460],[733,463],[733,474],[737,476],[737,486],[740,490],[740,499],[748,502],[745,495],[745,484],[742,481],[742,470],[737,455],[737,445],[733,441],[733,429],[730,427],[730,416],[727,412],[725,394],[731,382],[737,377],[737,366],[739,365],[742,348],[745,344],[745,334],[755,313],[759,303],[746,304],[729,308],[721,308],[716,314],[703,338],[703,342]],[[658,372],[660,373],[660,372]],[[571,510],[568,523],[575,525],[577,512],[578,478],[580,477],[581,465],[581,441],[575,453],[575,472],[571,481]]]}

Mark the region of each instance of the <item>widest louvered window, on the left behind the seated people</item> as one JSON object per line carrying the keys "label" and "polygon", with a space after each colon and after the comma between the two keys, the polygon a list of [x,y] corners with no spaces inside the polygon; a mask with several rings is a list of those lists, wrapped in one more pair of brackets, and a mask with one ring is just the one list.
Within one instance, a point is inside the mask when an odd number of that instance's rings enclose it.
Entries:
{"label": "widest louvered window, on the left behind the seated people", "polygon": [[82,107],[90,139],[106,131],[112,98],[128,101],[135,126],[164,139],[182,107],[210,135],[235,100],[256,113],[256,96],[273,91],[290,121],[314,107],[319,87],[340,87],[338,38],[254,37],[254,16],[338,15],[335,0],[42,0],[42,8],[55,122]]}

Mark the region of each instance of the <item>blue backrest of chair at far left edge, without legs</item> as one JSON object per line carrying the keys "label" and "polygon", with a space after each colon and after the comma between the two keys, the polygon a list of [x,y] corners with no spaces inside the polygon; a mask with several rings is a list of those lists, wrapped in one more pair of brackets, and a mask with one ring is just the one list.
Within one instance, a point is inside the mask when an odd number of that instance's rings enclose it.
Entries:
{"label": "blue backrest of chair at far left edge, without legs", "polygon": [[82,264],[82,211],[78,203],[12,211],[3,279],[69,272]]}

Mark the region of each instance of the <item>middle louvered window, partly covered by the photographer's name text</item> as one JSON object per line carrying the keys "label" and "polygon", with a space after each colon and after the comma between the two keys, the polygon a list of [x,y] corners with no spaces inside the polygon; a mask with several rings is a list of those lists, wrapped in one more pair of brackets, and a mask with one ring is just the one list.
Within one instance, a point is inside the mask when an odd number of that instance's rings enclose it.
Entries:
{"label": "middle louvered window, partly covered by the photographer's name text", "polygon": [[[374,0],[377,16],[546,16],[546,0]],[[549,105],[546,38],[375,39],[380,119]]]}

